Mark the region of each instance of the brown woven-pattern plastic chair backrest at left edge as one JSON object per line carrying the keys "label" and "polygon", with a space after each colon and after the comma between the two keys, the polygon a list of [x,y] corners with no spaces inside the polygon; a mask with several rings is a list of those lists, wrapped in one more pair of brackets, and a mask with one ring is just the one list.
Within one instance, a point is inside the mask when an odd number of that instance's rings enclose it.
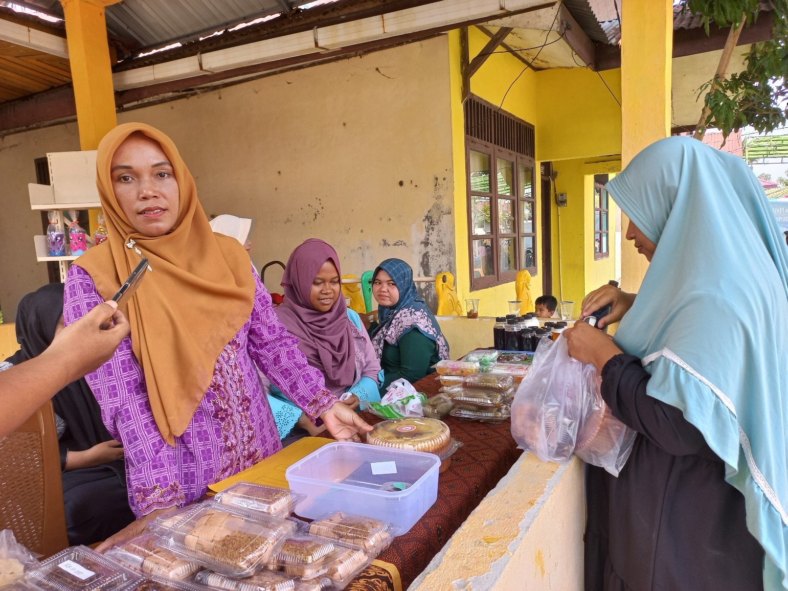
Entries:
{"label": "brown woven-pattern plastic chair backrest at left edge", "polygon": [[0,441],[0,530],[4,529],[44,556],[69,546],[51,402]]}

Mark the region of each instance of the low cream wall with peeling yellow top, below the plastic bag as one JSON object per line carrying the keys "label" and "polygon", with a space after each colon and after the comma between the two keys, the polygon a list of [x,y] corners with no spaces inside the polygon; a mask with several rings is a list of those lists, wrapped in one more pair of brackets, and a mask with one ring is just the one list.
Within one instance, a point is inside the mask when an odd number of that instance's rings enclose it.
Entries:
{"label": "low cream wall with peeling yellow top, below the plastic bag", "polygon": [[583,463],[524,454],[409,591],[582,591]]}

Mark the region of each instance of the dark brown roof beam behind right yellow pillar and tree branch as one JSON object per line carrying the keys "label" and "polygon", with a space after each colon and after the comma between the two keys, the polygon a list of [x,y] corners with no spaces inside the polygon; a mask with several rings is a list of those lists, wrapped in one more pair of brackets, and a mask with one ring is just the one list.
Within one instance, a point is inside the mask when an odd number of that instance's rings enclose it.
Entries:
{"label": "dark brown roof beam behind right yellow pillar and tree branch", "polygon": [[[758,20],[742,30],[737,46],[771,39],[772,26],[771,13],[761,11]],[[673,58],[721,50],[725,46],[729,31],[730,28],[719,28],[714,24],[709,26],[708,35],[702,27],[678,28],[673,32]],[[621,67],[621,48],[619,46],[597,44],[595,53],[597,71]]]}

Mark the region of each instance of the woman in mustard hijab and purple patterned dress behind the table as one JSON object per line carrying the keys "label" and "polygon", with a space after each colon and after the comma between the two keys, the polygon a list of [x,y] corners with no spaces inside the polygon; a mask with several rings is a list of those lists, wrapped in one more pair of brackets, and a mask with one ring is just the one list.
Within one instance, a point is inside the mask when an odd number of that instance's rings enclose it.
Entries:
{"label": "woman in mustard hijab and purple patterned dress behind the table", "polygon": [[157,129],[120,125],[99,145],[97,184],[108,239],[65,282],[65,323],[110,299],[150,260],[123,310],[117,352],[86,376],[102,420],[125,449],[138,519],[103,548],[143,530],[154,511],[190,503],[208,485],[278,452],[255,363],[337,439],[371,428],[337,403],[271,307],[243,246],[214,234],[177,148]]}

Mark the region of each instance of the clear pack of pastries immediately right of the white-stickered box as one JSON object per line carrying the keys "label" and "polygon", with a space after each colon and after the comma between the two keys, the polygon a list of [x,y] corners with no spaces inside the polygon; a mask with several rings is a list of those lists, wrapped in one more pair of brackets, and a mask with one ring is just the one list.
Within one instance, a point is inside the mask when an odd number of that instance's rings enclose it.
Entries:
{"label": "clear pack of pastries immediately right of the white-stickered box", "polygon": [[162,538],[152,532],[132,537],[131,540],[107,550],[105,556],[143,574],[162,578],[184,580],[201,568],[198,563],[162,548]]}

